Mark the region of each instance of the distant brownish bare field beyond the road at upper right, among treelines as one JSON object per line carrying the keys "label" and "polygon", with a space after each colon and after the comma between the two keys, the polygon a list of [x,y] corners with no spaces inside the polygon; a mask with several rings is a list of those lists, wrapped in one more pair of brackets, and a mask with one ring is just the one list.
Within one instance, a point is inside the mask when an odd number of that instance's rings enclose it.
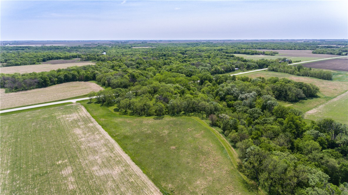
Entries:
{"label": "distant brownish bare field beyond the road at upper right, among treelines", "polygon": [[316,58],[330,58],[338,57],[339,55],[329,54],[312,54],[313,50],[271,50],[271,49],[255,49],[258,51],[278,51],[277,56],[289,56],[289,57],[316,57]]}

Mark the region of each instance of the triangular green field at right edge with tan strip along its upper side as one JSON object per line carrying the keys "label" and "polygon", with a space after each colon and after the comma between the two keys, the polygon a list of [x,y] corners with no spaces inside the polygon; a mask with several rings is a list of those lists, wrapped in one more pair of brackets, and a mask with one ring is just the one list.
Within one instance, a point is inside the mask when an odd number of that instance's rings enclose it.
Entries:
{"label": "triangular green field at right edge with tan strip along its upper side", "polygon": [[338,122],[348,124],[348,91],[311,109],[306,112],[304,117],[310,120],[332,118]]}

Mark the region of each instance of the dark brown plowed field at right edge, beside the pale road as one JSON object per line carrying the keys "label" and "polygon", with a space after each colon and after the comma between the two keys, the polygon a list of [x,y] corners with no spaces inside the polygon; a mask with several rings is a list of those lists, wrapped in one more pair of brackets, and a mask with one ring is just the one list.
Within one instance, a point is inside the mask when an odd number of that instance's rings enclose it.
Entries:
{"label": "dark brown plowed field at right edge, beside the pale road", "polygon": [[348,57],[304,63],[302,65],[311,68],[321,68],[334,71],[348,71]]}

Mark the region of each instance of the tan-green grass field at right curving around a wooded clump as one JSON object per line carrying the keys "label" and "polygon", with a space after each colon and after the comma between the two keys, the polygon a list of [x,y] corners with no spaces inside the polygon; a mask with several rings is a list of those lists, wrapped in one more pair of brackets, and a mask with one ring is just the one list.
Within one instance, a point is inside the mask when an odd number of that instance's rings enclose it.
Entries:
{"label": "tan-green grass field at right curving around a wooded clump", "polygon": [[298,108],[302,112],[307,112],[310,109],[313,109],[317,107],[318,105],[321,105],[325,103],[326,101],[329,101],[330,99],[335,98],[338,95],[341,95],[348,90],[348,82],[346,81],[346,78],[345,78],[347,76],[347,73],[340,72],[340,71],[335,71],[334,78],[332,81],[316,79],[316,78],[311,78],[307,76],[296,76],[296,75],[291,75],[286,73],[270,72],[270,71],[252,72],[252,73],[246,73],[240,76],[249,76],[252,78],[259,77],[259,76],[262,76],[264,78],[270,78],[272,76],[275,76],[278,78],[287,78],[294,81],[315,84],[316,86],[319,87],[319,90],[320,90],[320,92],[318,93],[319,95],[318,98],[308,98],[307,100],[300,100],[299,102],[296,102],[296,103],[288,103],[288,102],[282,103],[285,106]]}

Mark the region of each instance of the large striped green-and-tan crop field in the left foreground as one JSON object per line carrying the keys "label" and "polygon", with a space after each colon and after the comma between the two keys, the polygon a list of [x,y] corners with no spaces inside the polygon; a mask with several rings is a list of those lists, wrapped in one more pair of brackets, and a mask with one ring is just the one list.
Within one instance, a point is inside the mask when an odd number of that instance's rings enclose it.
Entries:
{"label": "large striped green-and-tan crop field in the left foreground", "polygon": [[0,194],[160,194],[81,105],[1,116],[0,136]]}

